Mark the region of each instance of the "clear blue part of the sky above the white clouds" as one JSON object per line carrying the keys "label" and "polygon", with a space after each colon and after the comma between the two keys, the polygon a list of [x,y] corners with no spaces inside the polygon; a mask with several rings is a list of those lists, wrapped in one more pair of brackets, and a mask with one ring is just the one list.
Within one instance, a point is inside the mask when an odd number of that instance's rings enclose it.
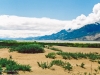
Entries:
{"label": "clear blue part of the sky above the white clouds", "polygon": [[100,0],[0,0],[0,15],[72,20],[91,13]]}

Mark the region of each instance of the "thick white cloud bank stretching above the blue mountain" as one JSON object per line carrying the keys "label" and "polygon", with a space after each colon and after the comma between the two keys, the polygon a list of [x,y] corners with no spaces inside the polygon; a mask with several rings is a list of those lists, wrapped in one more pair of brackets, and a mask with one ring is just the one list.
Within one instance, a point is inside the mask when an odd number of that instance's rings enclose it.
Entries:
{"label": "thick white cloud bank stretching above the blue mountain", "polygon": [[0,37],[35,37],[50,35],[62,29],[78,29],[86,24],[100,22],[100,3],[94,5],[92,12],[81,14],[71,21],[50,18],[30,18],[15,15],[0,15]]}

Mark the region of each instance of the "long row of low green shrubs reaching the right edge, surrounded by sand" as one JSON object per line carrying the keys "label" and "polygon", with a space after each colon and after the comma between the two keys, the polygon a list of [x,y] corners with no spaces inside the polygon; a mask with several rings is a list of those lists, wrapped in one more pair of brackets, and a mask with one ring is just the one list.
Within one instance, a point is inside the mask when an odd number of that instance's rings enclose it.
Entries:
{"label": "long row of low green shrubs reaching the right edge, surrounded by sand", "polygon": [[61,55],[63,59],[90,59],[90,60],[96,60],[100,59],[100,54],[95,53],[70,53],[70,52],[57,52],[58,55]]}

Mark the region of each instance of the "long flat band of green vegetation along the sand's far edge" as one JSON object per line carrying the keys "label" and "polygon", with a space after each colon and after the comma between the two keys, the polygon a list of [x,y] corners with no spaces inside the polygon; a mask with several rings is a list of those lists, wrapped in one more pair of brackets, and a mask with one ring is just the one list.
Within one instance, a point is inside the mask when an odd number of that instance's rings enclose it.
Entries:
{"label": "long flat band of green vegetation along the sand's far edge", "polygon": [[100,48],[100,43],[47,43],[47,42],[17,42],[15,40],[1,40],[0,48],[12,48],[21,45],[28,44],[40,44],[43,47],[45,45],[49,45],[50,47],[53,45],[56,46],[67,46],[67,47],[88,47],[88,48]]}

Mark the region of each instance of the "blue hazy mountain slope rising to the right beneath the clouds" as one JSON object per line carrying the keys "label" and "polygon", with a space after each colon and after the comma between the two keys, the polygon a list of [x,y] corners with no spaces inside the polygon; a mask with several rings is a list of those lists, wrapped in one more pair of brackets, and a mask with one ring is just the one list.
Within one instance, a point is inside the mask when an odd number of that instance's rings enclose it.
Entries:
{"label": "blue hazy mountain slope rising to the right beneath the clouds", "polygon": [[[70,29],[69,29],[70,30]],[[98,40],[100,35],[100,23],[87,24],[80,29],[66,31],[65,29],[52,34],[34,38],[35,40]],[[91,36],[91,39],[87,38]],[[96,36],[95,39],[94,36]]]}

